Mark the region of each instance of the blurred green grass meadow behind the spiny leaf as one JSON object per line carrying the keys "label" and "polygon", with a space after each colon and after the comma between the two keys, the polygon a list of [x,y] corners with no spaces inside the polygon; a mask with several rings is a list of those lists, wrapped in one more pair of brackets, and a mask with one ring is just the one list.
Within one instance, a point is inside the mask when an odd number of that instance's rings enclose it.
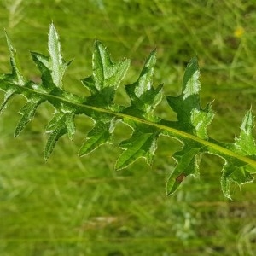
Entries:
{"label": "blurred green grass meadow behind the spiny leaf", "polygon": [[[2,0],[0,29],[12,38],[23,73],[37,80],[29,50],[47,54],[54,21],[65,59],[74,58],[65,88],[79,93],[86,93],[79,80],[91,73],[95,38],[108,46],[113,60],[131,59],[129,84],[156,47],[154,82],[165,83],[167,95],[178,94],[186,63],[197,55],[202,104],[215,99],[209,133],[232,142],[246,109],[256,106],[255,10],[254,0]],[[10,70],[3,30],[0,70]],[[123,91],[117,101],[127,100]],[[255,184],[234,186],[234,201],[224,199],[218,158],[204,156],[201,178],[186,178],[176,195],[166,197],[177,143],[161,138],[152,167],[139,160],[114,172],[116,147],[77,156],[91,125],[79,117],[74,143],[61,138],[45,163],[44,127],[53,109],[41,106],[14,139],[22,104],[17,96],[0,119],[1,255],[255,255]],[[165,107],[163,102],[158,113],[168,117],[172,113]],[[129,132],[124,130],[118,127],[118,139]]]}

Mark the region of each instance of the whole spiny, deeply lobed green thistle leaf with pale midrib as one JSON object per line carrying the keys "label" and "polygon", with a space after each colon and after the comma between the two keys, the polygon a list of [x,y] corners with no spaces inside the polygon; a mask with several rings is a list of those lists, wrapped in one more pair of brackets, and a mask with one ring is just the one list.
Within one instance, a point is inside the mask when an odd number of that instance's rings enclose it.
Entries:
{"label": "whole spiny, deeply lobed green thistle leaf with pale midrib", "polygon": [[92,75],[82,79],[82,84],[90,90],[90,96],[78,96],[63,89],[62,78],[71,61],[65,61],[61,55],[60,39],[52,24],[49,27],[49,56],[32,52],[32,60],[42,73],[41,83],[25,79],[9,37],[6,35],[10,52],[12,73],[0,75],[0,89],[5,92],[2,111],[9,99],[16,94],[26,97],[26,104],[20,109],[21,119],[15,129],[15,137],[33,119],[36,110],[43,102],[49,102],[55,113],[46,127],[49,138],[44,148],[47,160],[55,148],[58,139],[67,134],[73,139],[74,119],[78,114],[85,114],[94,121],[93,128],[79,149],[79,155],[90,154],[104,143],[113,143],[113,131],[119,122],[129,125],[131,137],[119,143],[123,152],[119,155],[115,169],[130,166],[139,158],[148,164],[154,159],[157,141],[160,136],[168,136],[182,143],[182,149],[173,154],[177,166],[166,184],[166,193],[172,195],[183,178],[189,175],[200,176],[201,154],[215,154],[224,160],[221,187],[224,195],[230,198],[230,183],[249,183],[253,181],[256,167],[256,148],[253,139],[253,113],[247,111],[241,123],[241,133],[235,143],[220,143],[207,134],[214,112],[212,104],[201,108],[199,81],[200,71],[197,59],[189,61],[183,77],[180,96],[166,96],[169,106],[177,113],[177,120],[160,119],[154,111],[165,96],[163,85],[153,85],[156,52],[153,50],[145,61],[137,81],[125,86],[131,104],[119,106],[114,102],[119,87],[130,61],[123,59],[113,63],[108,49],[97,41],[92,57]]}

